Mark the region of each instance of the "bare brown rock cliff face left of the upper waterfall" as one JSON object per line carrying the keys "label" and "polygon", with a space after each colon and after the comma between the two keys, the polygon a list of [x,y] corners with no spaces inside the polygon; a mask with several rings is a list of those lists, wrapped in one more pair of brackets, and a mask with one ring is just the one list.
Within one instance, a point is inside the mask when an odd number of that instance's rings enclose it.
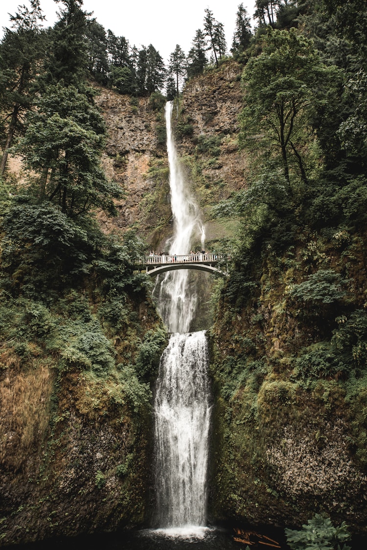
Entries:
{"label": "bare brown rock cliff face left of the upper waterfall", "polygon": [[148,98],[137,100],[104,89],[96,102],[108,131],[105,171],[124,191],[116,201],[118,216],[109,219],[101,214],[99,222],[106,232],[135,227],[155,244],[157,228],[164,233],[170,219],[162,105],[156,108]]}

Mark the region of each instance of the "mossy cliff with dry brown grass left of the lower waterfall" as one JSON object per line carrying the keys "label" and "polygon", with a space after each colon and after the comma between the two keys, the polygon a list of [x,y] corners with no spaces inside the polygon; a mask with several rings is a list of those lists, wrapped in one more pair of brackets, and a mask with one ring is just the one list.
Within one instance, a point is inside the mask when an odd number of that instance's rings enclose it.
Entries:
{"label": "mossy cliff with dry brown grass left of the lower waterfall", "polygon": [[113,304],[95,291],[2,307],[1,544],[149,514],[150,383],[165,333],[143,290]]}

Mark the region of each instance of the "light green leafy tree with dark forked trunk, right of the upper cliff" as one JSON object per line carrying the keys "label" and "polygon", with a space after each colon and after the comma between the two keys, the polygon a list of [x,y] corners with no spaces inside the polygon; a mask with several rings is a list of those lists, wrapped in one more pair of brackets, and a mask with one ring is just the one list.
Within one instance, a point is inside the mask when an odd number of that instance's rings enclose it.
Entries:
{"label": "light green leafy tree with dark forked trunk, right of the upper cliff", "polygon": [[246,106],[241,114],[241,145],[273,152],[288,182],[290,167],[296,164],[306,183],[303,151],[311,117],[337,76],[336,68],[321,62],[310,40],[294,29],[271,30],[263,52],[243,71]]}

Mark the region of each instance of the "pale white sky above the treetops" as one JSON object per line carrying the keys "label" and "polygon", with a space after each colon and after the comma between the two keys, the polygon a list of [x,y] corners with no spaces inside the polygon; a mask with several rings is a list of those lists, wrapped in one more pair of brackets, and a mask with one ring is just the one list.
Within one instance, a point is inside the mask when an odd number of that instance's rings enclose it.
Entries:
{"label": "pale white sky above the treetops", "polygon": [[[58,7],[63,4],[53,0],[40,3],[47,19],[44,26],[52,26]],[[242,0],[242,3],[252,17],[255,0]],[[10,26],[8,14],[14,15],[18,5],[23,4],[29,7],[29,0],[0,0],[0,36],[3,36],[2,27]],[[130,46],[135,44],[140,48],[152,44],[166,62],[176,44],[188,53],[196,30],[203,29],[205,8],[212,10],[214,18],[223,23],[229,50],[239,4],[241,0],[84,0],[82,9],[93,12],[92,17],[106,31],[110,29],[116,36],[125,36]]]}

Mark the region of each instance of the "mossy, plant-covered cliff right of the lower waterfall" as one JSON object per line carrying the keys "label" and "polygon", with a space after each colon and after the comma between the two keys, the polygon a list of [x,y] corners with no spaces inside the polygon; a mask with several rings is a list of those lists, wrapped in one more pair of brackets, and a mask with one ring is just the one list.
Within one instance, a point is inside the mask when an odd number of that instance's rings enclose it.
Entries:
{"label": "mossy, plant-covered cliff right of the lower waterfall", "polygon": [[308,231],[237,261],[210,331],[213,518],[365,531],[365,246]]}

